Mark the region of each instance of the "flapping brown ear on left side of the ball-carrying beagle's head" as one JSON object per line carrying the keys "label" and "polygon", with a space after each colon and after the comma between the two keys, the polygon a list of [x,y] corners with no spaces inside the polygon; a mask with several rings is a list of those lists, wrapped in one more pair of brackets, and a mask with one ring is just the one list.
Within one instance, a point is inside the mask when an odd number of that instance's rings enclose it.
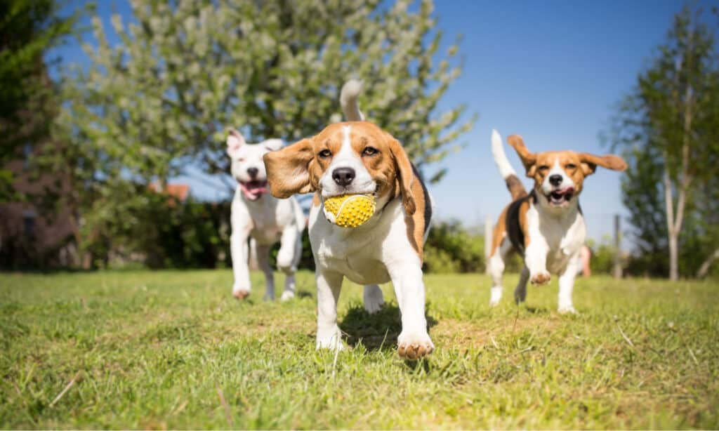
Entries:
{"label": "flapping brown ear on left side of the ball-carrying beagle's head", "polygon": [[268,152],[262,159],[267,170],[270,193],[275,198],[289,198],[296,193],[311,193],[317,189],[311,170],[314,159],[312,139]]}

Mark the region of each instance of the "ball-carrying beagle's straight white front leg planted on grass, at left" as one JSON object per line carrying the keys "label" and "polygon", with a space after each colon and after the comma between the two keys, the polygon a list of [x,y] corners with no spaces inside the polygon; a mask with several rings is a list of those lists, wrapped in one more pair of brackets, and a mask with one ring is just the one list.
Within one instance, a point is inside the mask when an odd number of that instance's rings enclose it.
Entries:
{"label": "ball-carrying beagle's straight white front leg planted on grass, at left", "polygon": [[342,350],[342,331],[337,326],[337,300],[342,274],[317,269],[317,348]]}

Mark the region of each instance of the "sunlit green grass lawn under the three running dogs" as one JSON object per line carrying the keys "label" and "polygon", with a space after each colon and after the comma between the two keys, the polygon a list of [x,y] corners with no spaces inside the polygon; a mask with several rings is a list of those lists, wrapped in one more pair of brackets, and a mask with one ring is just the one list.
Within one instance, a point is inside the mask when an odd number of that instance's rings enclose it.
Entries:
{"label": "sunlit green grass lawn under the three running dogs", "polygon": [[427,275],[436,351],[408,363],[390,285],[369,316],[345,284],[335,358],[314,350],[312,274],[288,303],[252,279],[239,303],[229,271],[0,275],[0,426],[719,427],[715,282],[578,279],[566,316],[556,281],[490,310],[487,277]]}

